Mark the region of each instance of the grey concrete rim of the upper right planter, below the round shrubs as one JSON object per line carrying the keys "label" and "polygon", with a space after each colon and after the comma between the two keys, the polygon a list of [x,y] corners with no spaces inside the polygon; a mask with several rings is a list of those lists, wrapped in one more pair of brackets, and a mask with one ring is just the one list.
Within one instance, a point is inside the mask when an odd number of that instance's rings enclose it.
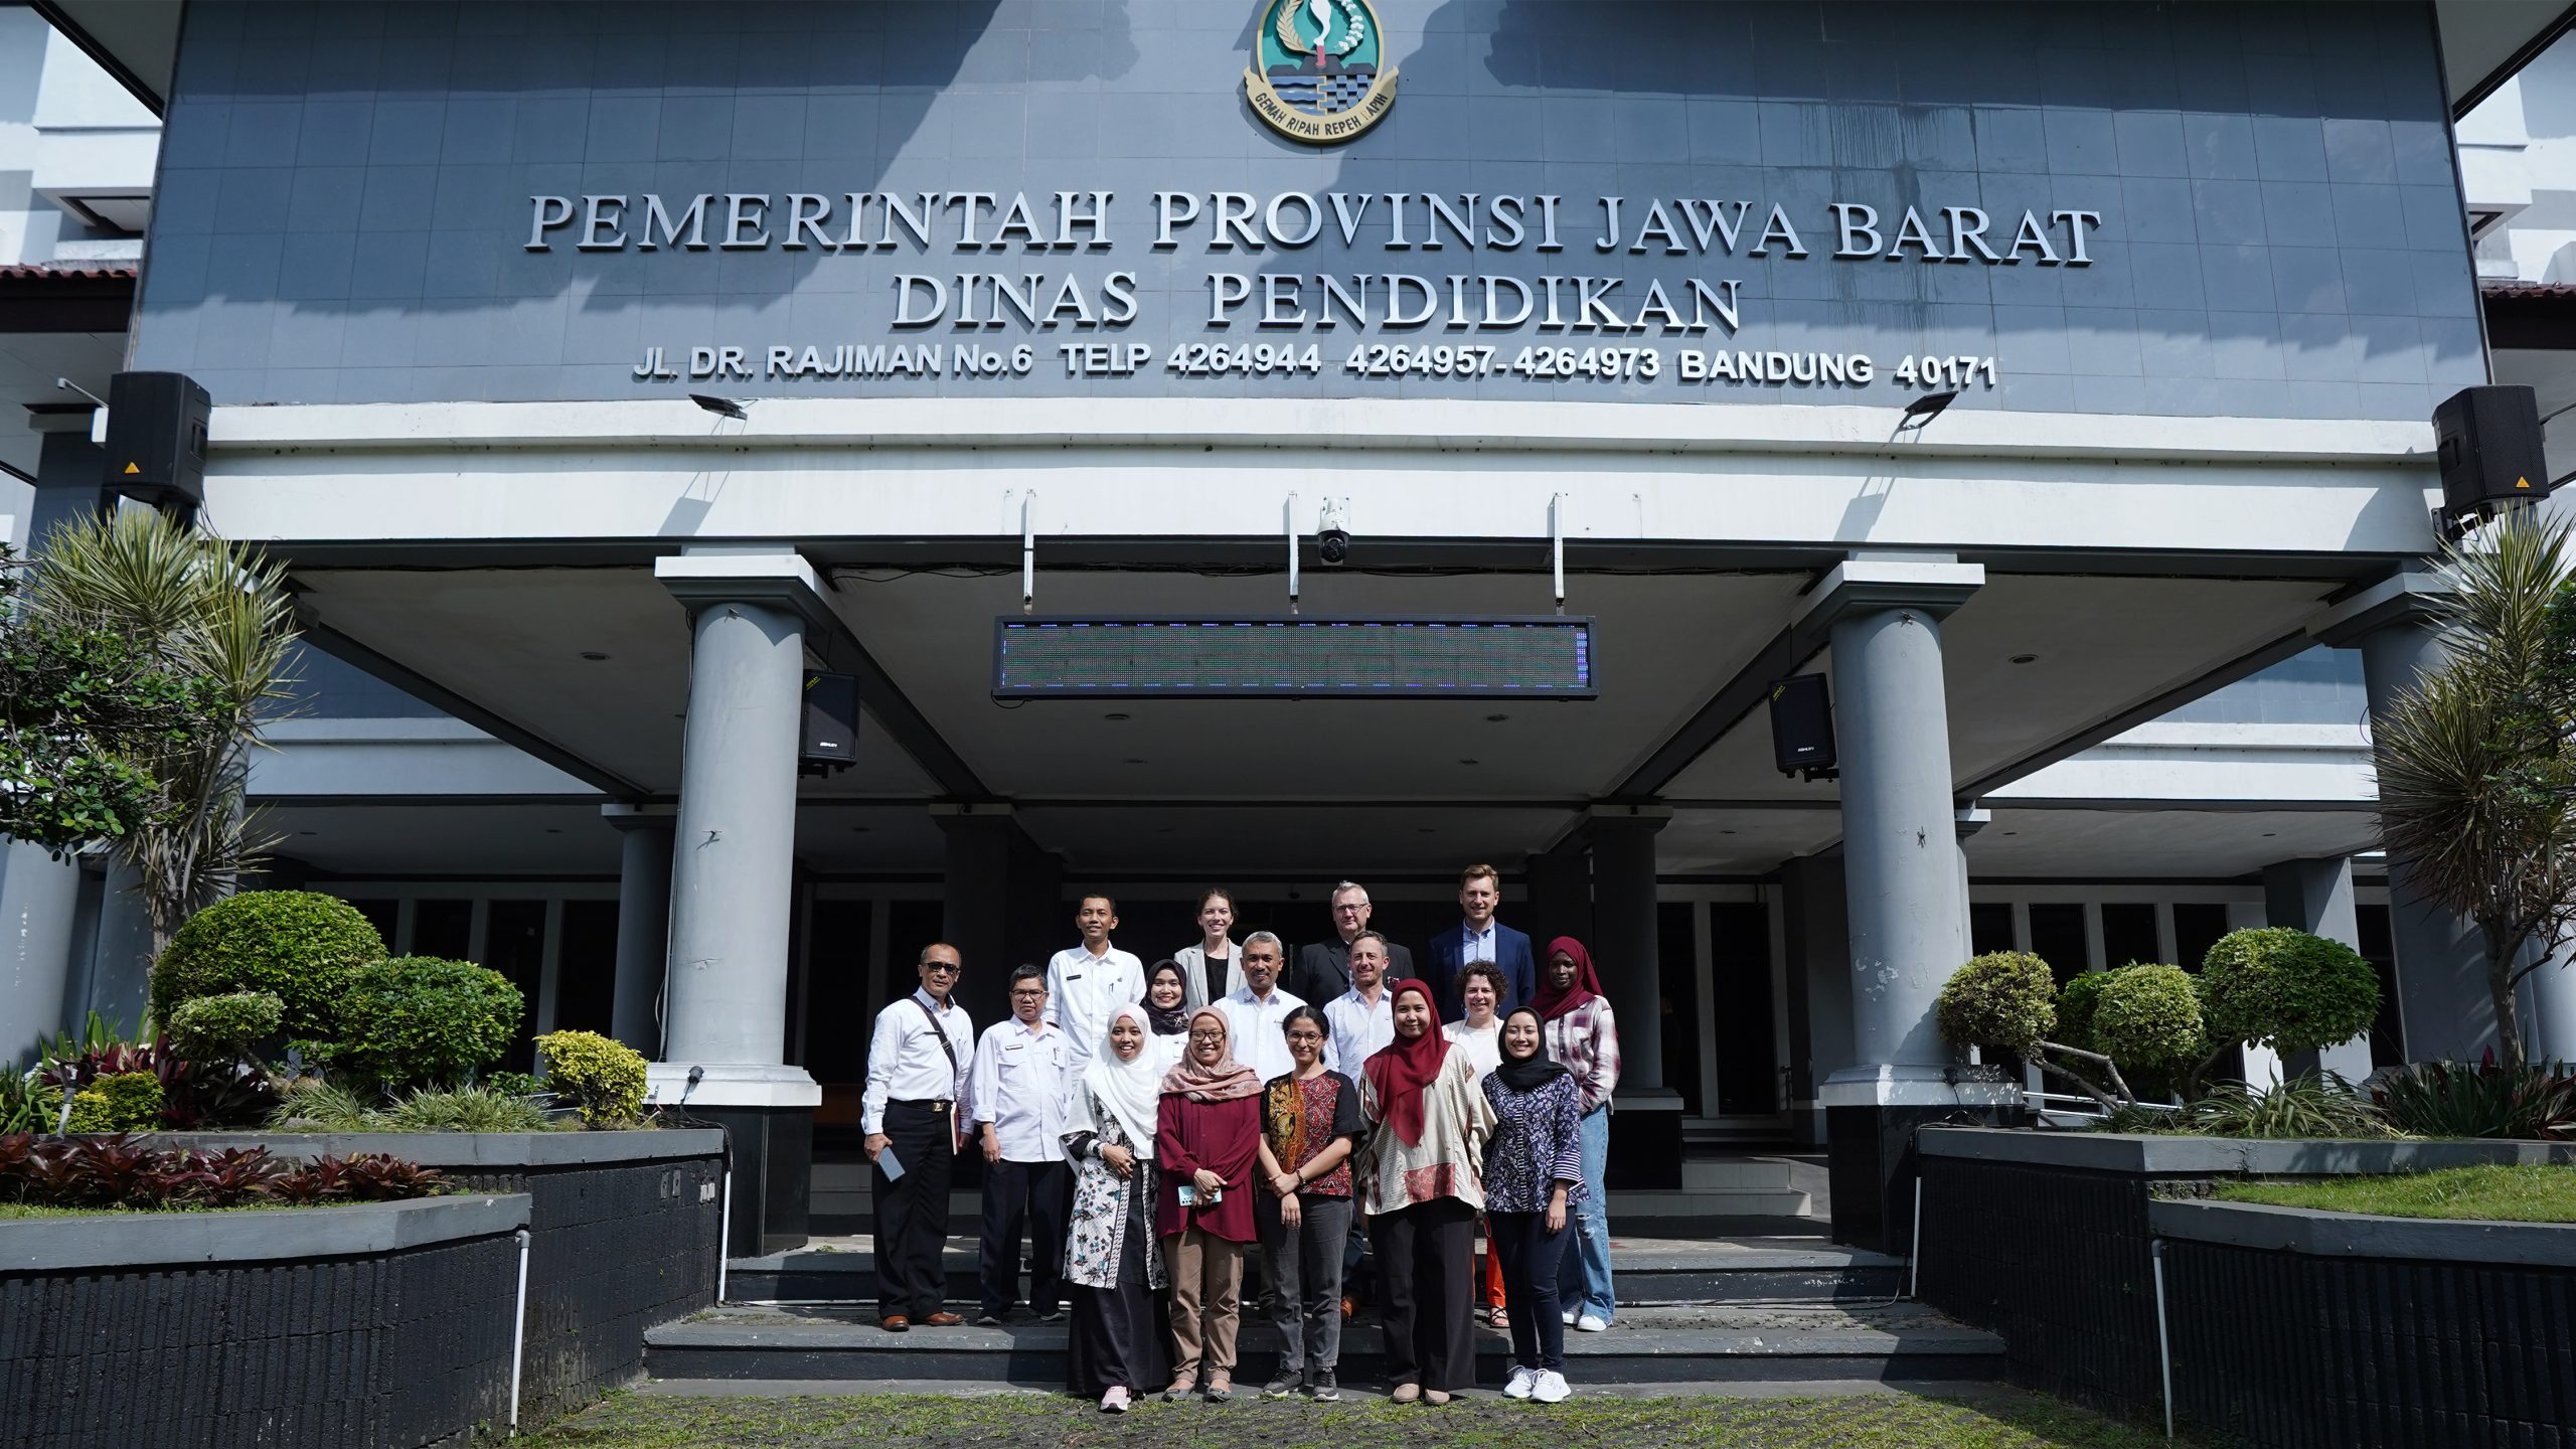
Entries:
{"label": "grey concrete rim of the upper right planter, below the round shrubs", "polygon": [[2115,1132],[2025,1132],[2012,1127],[1924,1127],[1927,1158],[2032,1163],[2156,1178],[2306,1178],[2342,1173],[2429,1173],[2491,1163],[2576,1165],[2576,1142],[2383,1142],[2257,1137],[2130,1137]]}

